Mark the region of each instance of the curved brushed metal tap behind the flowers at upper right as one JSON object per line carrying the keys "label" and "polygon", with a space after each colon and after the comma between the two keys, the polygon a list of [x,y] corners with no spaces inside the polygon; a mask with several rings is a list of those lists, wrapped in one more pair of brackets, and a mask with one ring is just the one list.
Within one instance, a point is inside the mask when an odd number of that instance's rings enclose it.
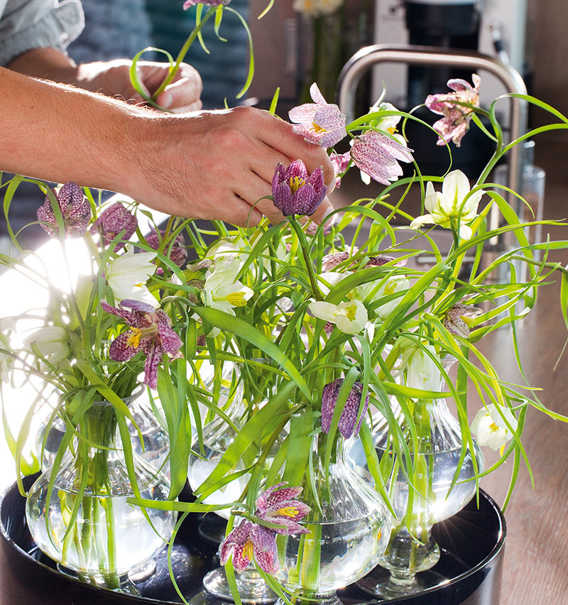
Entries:
{"label": "curved brushed metal tap behind the flowers at upper right", "polygon": [[[490,55],[473,51],[415,46],[406,44],[374,44],[357,51],[339,74],[337,95],[339,108],[347,119],[354,119],[355,94],[364,73],[377,63],[405,63],[406,65],[427,65],[428,67],[461,67],[471,70],[486,70],[498,77],[507,92],[527,94],[523,78],[514,67]],[[514,141],[527,131],[528,108],[522,99],[512,98],[510,110],[510,137]],[[520,146],[510,150],[508,182],[513,190],[520,190],[523,158]]]}

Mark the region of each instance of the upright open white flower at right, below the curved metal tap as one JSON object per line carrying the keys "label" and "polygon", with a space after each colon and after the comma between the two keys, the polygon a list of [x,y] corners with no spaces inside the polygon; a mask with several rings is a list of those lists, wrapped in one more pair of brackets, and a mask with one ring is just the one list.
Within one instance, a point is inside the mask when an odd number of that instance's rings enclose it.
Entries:
{"label": "upright open white flower at right, below the curved metal tap", "polygon": [[434,223],[449,229],[452,219],[457,223],[459,217],[459,236],[461,239],[471,239],[471,223],[476,217],[479,200],[483,191],[476,191],[464,201],[469,194],[469,180],[461,170],[453,170],[442,184],[442,193],[434,190],[432,182],[426,185],[426,209],[430,214],[423,214],[410,223],[410,229],[420,229],[422,225]]}

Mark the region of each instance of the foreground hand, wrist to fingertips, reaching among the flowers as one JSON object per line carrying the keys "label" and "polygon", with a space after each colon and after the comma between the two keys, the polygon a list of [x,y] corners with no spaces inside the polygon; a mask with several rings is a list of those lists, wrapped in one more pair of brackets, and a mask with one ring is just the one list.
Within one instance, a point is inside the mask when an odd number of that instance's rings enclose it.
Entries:
{"label": "foreground hand, wrist to fingertips, reaching among the flowers", "polygon": [[[236,107],[178,116],[148,112],[143,124],[134,128],[139,170],[125,175],[121,191],[168,214],[242,227],[258,224],[263,214],[280,222],[283,215],[273,202],[261,199],[271,195],[280,162],[301,159],[310,172],[322,166],[324,181],[334,182],[324,149],[307,143],[292,132],[291,124],[267,111]],[[320,223],[331,211],[326,197],[310,218]]]}

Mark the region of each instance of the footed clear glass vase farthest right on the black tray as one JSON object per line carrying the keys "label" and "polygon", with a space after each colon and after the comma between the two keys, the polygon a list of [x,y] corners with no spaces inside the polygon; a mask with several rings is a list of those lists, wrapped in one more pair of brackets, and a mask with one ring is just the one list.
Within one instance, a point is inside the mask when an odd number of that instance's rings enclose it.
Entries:
{"label": "footed clear glass vase farthest right on the black tray", "polygon": [[[449,371],[455,361],[454,357],[442,359],[444,370]],[[439,391],[444,390],[446,383],[442,376]],[[464,508],[476,491],[475,467],[480,473],[484,466],[483,454],[474,441],[473,452],[468,447],[460,462],[461,428],[445,399],[410,401],[409,410],[417,430],[418,452],[413,451],[406,421],[400,421],[400,426],[412,457],[411,469],[403,469],[393,457],[388,423],[378,423],[373,430],[378,458],[383,464],[388,462],[386,467],[392,469],[387,489],[396,520],[379,566],[357,585],[382,599],[413,594],[446,580],[429,571],[440,556],[432,538],[432,525]],[[350,452],[351,461],[356,458]]]}

